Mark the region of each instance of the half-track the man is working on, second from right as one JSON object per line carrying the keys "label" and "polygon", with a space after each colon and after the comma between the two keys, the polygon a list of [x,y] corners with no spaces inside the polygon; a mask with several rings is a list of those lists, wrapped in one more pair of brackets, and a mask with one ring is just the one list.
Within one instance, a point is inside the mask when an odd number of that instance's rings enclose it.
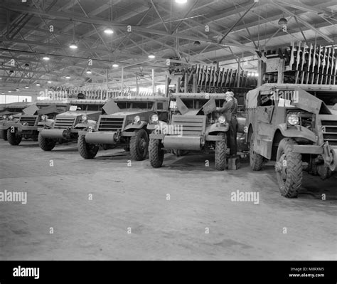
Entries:
{"label": "half-track the man is working on, second from right", "polygon": [[[226,167],[229,122],[215,111],[225,102],[225,94],[173,93],[170,100],[169,123],[159,121],[150,135],[149,159],[152,167],[161,167],[166,150],[171,152],[215,152],[215,169]],[[239,129],[243,132],[244,115]],[[243,123],[243,125],[242,125]],[[238,146],[242,142],[242,134]]]}

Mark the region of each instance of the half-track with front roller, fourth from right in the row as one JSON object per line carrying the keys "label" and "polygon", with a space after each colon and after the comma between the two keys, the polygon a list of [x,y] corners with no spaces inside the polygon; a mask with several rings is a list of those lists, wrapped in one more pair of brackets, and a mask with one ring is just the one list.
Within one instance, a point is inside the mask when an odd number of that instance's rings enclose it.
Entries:
{"label": "half-track with front roller, fourth from right in the row", "polygon": [[95,127],[107,100],[70,100],[68,111],[56,115],[52,125],[45,125],[38,134],[38,144],[51,151],[57,142],[77,142],[78,132]]}

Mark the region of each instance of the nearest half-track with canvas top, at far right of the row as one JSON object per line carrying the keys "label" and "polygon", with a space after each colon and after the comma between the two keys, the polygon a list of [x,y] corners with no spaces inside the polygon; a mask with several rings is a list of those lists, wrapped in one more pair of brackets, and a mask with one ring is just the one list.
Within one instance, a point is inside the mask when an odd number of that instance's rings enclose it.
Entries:
{"label": "nearest half-track with canvas top, at far right of the row", "polygon": [[282,196],[296,197],[303,171],[336,172],[337,86],[264,84],[247,93],[250,167],[274,160]]}

